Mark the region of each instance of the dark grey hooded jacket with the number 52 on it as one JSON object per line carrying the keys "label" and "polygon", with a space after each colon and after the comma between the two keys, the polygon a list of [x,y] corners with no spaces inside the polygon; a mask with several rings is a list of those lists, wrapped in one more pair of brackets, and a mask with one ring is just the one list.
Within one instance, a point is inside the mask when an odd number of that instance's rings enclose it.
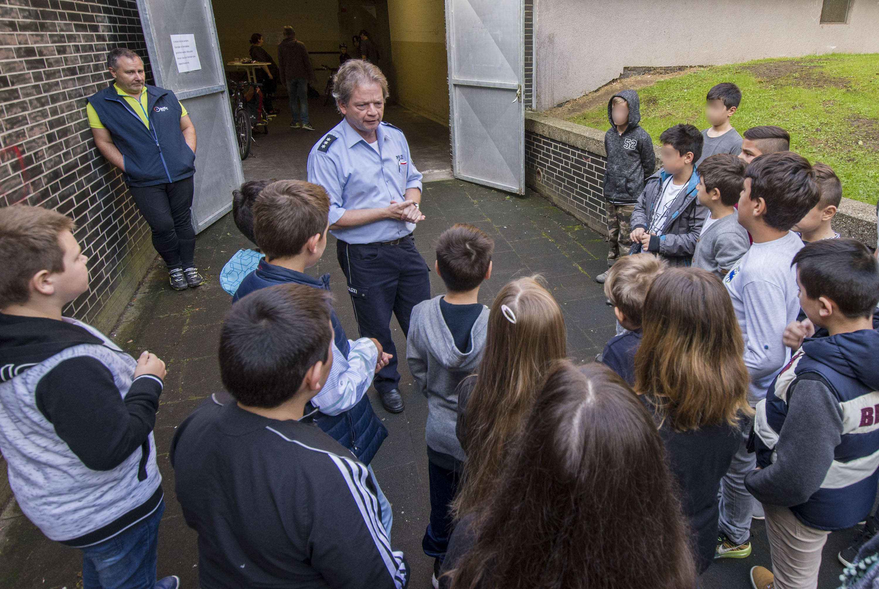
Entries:
{"label": "dark grey hooded jacket with the number 52 on it", "polygon": [[[614,126],[611,111],[617,96],[628,102],[628,127],[620,135]],[[638,92],[623,90],[607,101],[607,121],[610,129],[605,133],[607,169],[604,177],[604,197],[613,204],[633,204],[644,189],[644,182],[656,169],[657,157],[653,151],[650,134],[638,126],[641,107]]]}

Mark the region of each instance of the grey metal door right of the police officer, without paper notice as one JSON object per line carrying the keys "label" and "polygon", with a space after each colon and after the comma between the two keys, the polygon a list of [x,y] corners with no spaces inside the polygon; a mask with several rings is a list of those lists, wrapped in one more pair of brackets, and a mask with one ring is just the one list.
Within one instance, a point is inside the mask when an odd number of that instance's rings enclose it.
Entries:
{"label": "grey metal door right of the police officer, without paper notice", "polygon": [[455,178],[525,194],[522,0],[446,0]]}

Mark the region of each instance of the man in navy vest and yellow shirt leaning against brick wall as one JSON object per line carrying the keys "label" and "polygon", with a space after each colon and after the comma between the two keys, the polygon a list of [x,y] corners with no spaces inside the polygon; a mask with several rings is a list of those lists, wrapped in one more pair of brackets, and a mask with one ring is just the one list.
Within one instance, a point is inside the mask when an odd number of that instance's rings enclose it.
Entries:
{"label": "man in navy vest and yellow shirt leaning against brick wall", "polygon": [[171,288],[204,278],[195,267],[193,175],[195,127],[170,90],[146,84],[141,57],[114,48],[107,69],[115,82],[88,98],[86,114],[98,151],[125,173],[128,190],[152,230]]}

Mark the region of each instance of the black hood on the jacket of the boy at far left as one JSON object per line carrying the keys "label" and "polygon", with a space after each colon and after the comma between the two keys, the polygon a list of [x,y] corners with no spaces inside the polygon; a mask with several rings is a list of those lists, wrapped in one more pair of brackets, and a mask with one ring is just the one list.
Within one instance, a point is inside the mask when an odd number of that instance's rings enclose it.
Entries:
{"label": "black hood on the jacket of the boy at far left", "polygon": [[83,343],[104,342],[67,321],[0,313],[0,382]]}

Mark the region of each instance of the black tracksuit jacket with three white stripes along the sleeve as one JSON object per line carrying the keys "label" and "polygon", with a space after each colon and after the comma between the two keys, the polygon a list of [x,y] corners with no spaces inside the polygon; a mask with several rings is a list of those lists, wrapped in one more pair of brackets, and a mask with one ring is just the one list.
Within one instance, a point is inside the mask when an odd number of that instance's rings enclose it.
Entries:
{"label": "black tracksuit jacket with three white stripes along the sleeve", "polygon": [[214,394],[180,424],[170,458],[202,589],[408,585],[367,468],[316,425]]}

